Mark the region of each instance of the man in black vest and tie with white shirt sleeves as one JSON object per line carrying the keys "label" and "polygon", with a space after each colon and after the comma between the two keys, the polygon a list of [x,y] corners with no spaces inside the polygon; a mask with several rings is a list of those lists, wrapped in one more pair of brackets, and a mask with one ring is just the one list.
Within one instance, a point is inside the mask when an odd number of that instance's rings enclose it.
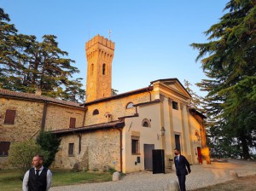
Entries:
{"label": "man in black vest and tie with white shirt sleeves", "polygon": [[33,167],[26,171],[23,178],[23,191],[48,191],[51,186],[52,174],[43,166],[44,156],[36,154],[32,159]]}

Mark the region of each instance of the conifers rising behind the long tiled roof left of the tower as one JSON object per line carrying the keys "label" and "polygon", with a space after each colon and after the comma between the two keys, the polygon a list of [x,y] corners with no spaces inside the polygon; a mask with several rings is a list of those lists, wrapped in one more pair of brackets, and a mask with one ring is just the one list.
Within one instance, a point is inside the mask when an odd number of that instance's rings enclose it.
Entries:
{"label": "conifers rising behind the long tiled roof left of the tower", "polygon": [[6,90],[84,101],[81,78],[73,80],[79,69],[67,52],[58,47],[54,35],[44,35],[38,42],[33,35],[17,33],[9,24],[9,15],[0,9],[0,86]]}

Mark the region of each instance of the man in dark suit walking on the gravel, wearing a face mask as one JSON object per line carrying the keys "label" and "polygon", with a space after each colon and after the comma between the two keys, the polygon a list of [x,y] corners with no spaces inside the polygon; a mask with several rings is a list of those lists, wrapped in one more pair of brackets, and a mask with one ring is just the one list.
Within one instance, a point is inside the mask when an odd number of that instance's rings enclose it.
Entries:
{"label": "man in dark suit walking on the gravel, wearing a face mask", "polygon": [[188,160],[180,154],[180,151],[177,148],[174,149],[174,154],[176,155],[174,157],[174,164],[176,167],[179,188],[181,191],[186,191],[186,175],[188,175],[188,172],[191,172],[190,165]]}

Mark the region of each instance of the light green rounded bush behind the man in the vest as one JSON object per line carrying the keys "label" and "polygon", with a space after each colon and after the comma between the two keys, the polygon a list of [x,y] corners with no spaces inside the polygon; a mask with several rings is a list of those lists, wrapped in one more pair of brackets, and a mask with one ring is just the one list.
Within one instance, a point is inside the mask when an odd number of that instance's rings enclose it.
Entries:
{"label": "light green rounded bush behind the man in the vest", "polygon": [[40,148],[33,140],[12,142],[9,148],[9,164],[24,174],[31,168],[32,159],[35,154],[42,154],[45,159],[48,158],[48,152]]}

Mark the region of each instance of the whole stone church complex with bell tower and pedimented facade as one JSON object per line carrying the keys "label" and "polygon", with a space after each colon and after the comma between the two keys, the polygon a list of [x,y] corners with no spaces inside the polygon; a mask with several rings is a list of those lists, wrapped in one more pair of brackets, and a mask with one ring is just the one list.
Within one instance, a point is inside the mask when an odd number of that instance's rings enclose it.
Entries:
{"label": "whole stone church complex with bell tower and pedimented facade", "polygon": [[0,152],[7,155],[7,142],[44,129],[61,137],[55,168],[143,171],[153,168],[152,151],[157,149],[164,151],[165,166],[171,167],[174,148],[191,164],[210,161],[205,116],[189,107],[191,96],[177,78],[111,96],[114,43],[97,35],[85,49],[84,104],[0,90]]}

